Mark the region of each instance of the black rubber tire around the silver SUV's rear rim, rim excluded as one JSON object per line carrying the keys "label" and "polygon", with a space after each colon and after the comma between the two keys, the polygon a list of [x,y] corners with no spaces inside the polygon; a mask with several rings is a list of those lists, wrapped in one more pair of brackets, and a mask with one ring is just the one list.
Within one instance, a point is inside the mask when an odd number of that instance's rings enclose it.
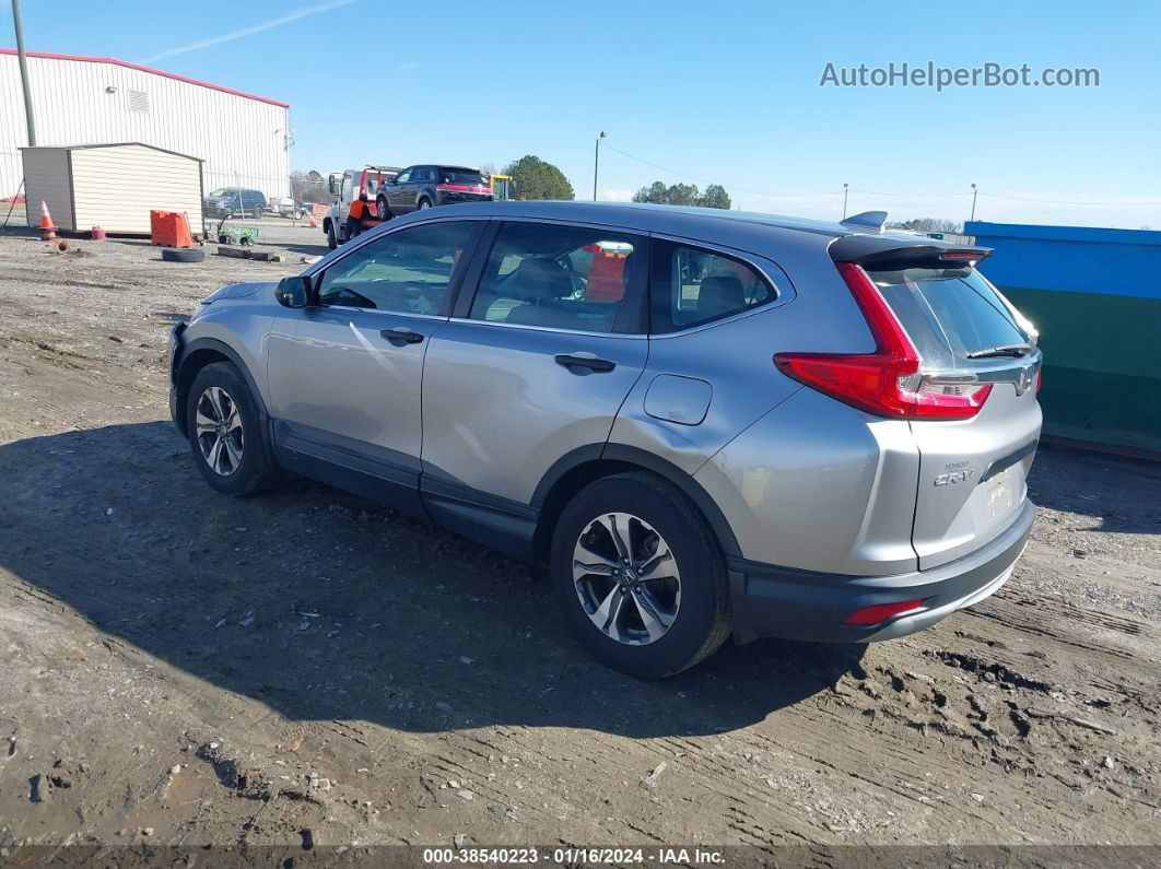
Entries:
{"label": "black rubber tire around the silver SUV's rear rim, rim excluded", "polygon": [[[592,622],[572,579],[572,550],[598,516],[625,512],[649,523],[668,543],[680,572],[680,606],[668,631],[627,645]],[[726,559],[705,520],[677,488],[649,473],[605,477],[578,492],[561,513],[549,562],[564,617],[585,647],[613,669],[662,679],[708,658],[731,630]]]}

